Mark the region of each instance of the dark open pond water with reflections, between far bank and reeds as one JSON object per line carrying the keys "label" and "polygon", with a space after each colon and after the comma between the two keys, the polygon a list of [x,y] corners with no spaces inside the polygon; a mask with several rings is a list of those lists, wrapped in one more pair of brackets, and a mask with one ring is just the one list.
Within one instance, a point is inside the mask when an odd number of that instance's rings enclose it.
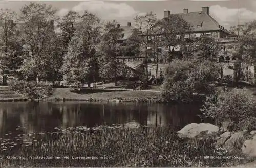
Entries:
{"label": "dark open pond water with reflections, between far bank and reeds", "polygon": [[[108,104],[84,102],[5,102],[0,104],[0,137],[8,133],[32,134],[55,127],[95,127],[123,124],[128,127],[171,126],[180,129],[200,122],[196,105]],[[30,141],[23,137],[24,141]]]}

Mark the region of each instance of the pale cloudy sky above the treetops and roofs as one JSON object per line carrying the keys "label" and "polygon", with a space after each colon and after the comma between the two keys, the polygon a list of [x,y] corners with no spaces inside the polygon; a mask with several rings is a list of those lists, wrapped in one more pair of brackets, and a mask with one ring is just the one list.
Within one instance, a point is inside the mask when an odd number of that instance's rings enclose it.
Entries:
{"label": "pale cloudy sky above the treetops and roofs", "polygon": [[[240,23],[256,20],[256,1],[254,0],[166,0],[166,1],[35,1],[52,5],[57,9],[57,15],[62,17],[69,10],[82,12],[87,10],[98,15],[102,20],[116,20],[121,25],[127,22],[133,23],[136,15],[143,15],[152,11],[160,19],[163,11],[182,13],[183,9],[188,12],[201,11],[202,7],[208,6],[209,12],[220,25],[229,29],[238,24],[238,7],[240,5]],[[30,1],[1,1],[0,8],[9,8],[17,13]]]}

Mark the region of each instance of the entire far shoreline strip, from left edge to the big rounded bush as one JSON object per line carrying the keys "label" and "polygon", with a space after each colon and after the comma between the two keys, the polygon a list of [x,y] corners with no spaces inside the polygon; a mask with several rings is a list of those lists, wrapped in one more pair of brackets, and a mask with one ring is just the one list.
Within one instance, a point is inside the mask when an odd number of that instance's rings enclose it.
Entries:
{"label": "entire far shoreline strip, from left edge to the big rounded bush", "polygon": [[134,103],[164,103],[160,92],[155,90],[129,89],[82,89],[77,91],[70,88],[53,88],[52,95],[42,99],[31,99],[15,93],[19,98],[0,98],[0,102],[25,102],[25,101],[85,101],[85,102],[134,102]]}

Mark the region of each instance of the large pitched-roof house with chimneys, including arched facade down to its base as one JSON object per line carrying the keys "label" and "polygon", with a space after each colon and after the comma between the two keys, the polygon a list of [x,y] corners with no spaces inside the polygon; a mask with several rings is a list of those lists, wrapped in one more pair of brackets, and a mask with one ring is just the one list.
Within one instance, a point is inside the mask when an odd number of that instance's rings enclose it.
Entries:
{"label": "large pitched-roof house with chimneys, including arched facade down to its base", "polygon": [[[169,17],[170,15],[172,15],[170,11],[164,11],[164,17]],[[237,35],[229,33],[212,18],[209,14],[209,7],[202,7],[202,11],[198,12],[188,12],[188,9],[183,9],[183,13],[179,13],[178,15],[184,18],[184,20],[193,27],[193,31],[190,32],[187,37],[192,35],[194,38],[210,37],[216,40],[221,46],[221,50],[218,54],[218,62],[223,66],[221,78],[223,76],[231,76],[234,78],[234,71],[230,67],[234,66],[234,61],[236,60],[236,57],[233,56],[233,52],[236,50],[236,44],[238,43]],[[187,50],[186,47],[184,47],[184,50]],[[252,64],[249,66],[244,65],[244,67],[243,80],[255,83],[255,79],[250,79],[252,81],[249,81],[248,77],[251,76],[251,78],[253,78],[255,76],[255,66]]]}

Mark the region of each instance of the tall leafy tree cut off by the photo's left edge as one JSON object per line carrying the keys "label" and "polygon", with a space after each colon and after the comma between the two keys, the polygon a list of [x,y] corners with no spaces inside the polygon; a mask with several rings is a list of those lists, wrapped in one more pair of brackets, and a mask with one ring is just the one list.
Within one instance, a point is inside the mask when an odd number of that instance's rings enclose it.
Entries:
{"label": "tall leafy tree cut off by the photo's left edge", "polygon": [[17,45],[15,38],[14,19],[16,13],[10,9],[0,9],[0,68],[2,71],[3,85],[7,84],[8,70],[15,69],[13,61],[17,59]]}

